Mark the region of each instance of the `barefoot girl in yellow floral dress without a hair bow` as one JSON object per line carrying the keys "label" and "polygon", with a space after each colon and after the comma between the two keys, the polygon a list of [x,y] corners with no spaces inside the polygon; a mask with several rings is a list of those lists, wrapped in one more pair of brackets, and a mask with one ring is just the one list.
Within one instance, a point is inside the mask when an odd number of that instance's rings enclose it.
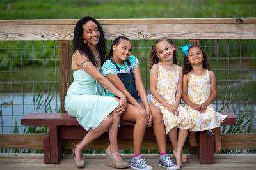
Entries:
{"label": "barefoot girl in yellow floral dress without a hair bow", "polygon": [[187,159],[182,153],[182,148],[191,127],[191,118],[180,106],[182,67],[177,66],[177,50],[171,39],[158,39],[152,45],[150,66],[151,103],[163,114],[165,132],[171,140],[173,155],[176,157],[177,165],[182,167],[182,162],[186,162]]}

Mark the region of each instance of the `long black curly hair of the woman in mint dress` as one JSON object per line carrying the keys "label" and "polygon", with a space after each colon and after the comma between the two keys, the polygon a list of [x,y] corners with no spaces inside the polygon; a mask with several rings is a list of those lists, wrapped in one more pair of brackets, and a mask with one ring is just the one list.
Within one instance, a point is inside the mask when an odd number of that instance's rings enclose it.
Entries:
{"label": "long black curly hair of the woman in mint dress", "polygon": [[92,64],[97,67],[97,61],[95,59],[95,56],[92,53],[92,50],[90,49],[90,47],[87,45],[87,43],[84,43],[83,40],[83,25],[86,24],[86,22],[88,22],[89,20],[92,20],[98,27],[98,30],[100,32],[100,38],[99,38],[99,43],[97,44],[97,49],[99,52],[99,57],[101,60],[101,65],[103,65],[103,63],[106,60],[106,39],[104,37],[104,32],[102,31],[102,27],[100,26],[99,22],[90,16],[85,16],[81,19],[79,19],[76,23],[75,29],[74,29],[74,38],[73,38],[73,52],[76,52],[77,50],[81,53],[81,54],[85,54],[90,62],[92,62]]}

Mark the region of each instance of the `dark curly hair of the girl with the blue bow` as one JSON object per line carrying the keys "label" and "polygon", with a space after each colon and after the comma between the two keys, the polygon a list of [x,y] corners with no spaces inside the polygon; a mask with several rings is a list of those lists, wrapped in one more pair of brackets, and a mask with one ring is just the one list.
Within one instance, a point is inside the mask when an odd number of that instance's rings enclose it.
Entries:
{"label": "dark curly hair of the girl with the blue bow", "polygon": [[[210,64],[209,64],[209,62],[208,62],[208,56],[207,56],[207,53],[205,52],[205,50],[203,49],[203,48],[201,48],[200,46],[191,46],[190,48],[189,48],[189,50],[191,49],[191,48],[193,48],[193,47],[198,47],[198,48],[200,48],[200,50],[201,50],[201,52],[202,52],[202,55],[203,55],[203,58],[204,58],[204,60],[203,60],[203,68],[204,69],[208,69],[208,70],[211,70],[211,66],[210,66]],[[188,53],[189,53],[189,50],[188,50]],[[186,56],[186,55],[184,55],[184,60],[183,60],[183,74],[188,74],[189,73],[189,71],[191,71],[192,70],[192,66],[191,66],[191,64],[189,64],[189,61],[188,61],[188,57]]]}

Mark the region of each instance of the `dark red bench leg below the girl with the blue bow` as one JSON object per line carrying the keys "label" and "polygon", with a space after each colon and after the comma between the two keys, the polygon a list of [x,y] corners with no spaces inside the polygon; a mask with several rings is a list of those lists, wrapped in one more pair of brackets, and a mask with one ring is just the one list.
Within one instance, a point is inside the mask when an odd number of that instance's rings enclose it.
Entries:
{"label": "dark red bench leg below the girl with the blue bow", "polygon": [[214,137],[209,131],[199,132],[200,164],[214,164]]}

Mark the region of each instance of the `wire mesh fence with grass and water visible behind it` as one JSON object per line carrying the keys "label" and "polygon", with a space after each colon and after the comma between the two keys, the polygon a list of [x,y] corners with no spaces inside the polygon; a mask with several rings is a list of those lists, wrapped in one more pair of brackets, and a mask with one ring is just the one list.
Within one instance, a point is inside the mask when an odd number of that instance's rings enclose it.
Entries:
{"label": "wire mesh fence with grass and water visible behind it", "polygon": [[[140,61],[141,76],[149,94],[148,55],[153,40],[131,41],[132,55]],[[188,40],[174,40],[179,65],[184,54],[180,46]],[[111,41],[107,41],[108,49]],[[256,40],[200,40],[214,71],[218,97],[216,111],[233,111],[237,118],[256,113]],[[20,119],[27,113],[60,112],[58,41],[0,41],[0,132],[12,133],[15,126],[24,131]],[[182,101],[181,101],[182,103]],[[15,124],[17,120],[17,124]]]}

